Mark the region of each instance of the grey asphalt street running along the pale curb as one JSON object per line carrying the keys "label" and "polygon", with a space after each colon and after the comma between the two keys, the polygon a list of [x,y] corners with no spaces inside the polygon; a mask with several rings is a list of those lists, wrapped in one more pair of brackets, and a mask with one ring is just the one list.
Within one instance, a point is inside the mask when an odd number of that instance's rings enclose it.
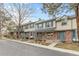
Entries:
{"label": "grey asphalt street running along the pale curb", "polygon": [[75,56],[65,52],[49,50],[36,46],[0,40],[0,56]]}

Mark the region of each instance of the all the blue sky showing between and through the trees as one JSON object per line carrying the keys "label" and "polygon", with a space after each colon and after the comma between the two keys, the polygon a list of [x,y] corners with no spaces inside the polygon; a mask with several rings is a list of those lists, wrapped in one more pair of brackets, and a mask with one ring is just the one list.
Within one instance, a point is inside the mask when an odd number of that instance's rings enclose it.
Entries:
{"label": "all the blue sky showing between and through the trees", "polygon": [[[32,17],[30,17],[30,19],[28,21],[37,21],[37,20],[39,20],[39,18],[42,19],[42,20],[50,19],[48,13],[45,14],[41,10],[41,8],[42,8],[41,3],[30,3],[30,5],[31,5],[31,8],[33,8],[35,10],[35,12],[32,14]],[[6,4],[6,6],[8,6],[6,8],[10,9],[9,4]],[[67,4],[65,4],[65,6],[67,6]],[[57,16],[61,16],[61,14],[64,14],[64,12],[67,10],[67,8],[64,8],[63,10],[64,11],[60,12],[60,15],[57,15]],[[74,15],[74,12],[70,11],[70,12],[66,13],[66,15]]]}

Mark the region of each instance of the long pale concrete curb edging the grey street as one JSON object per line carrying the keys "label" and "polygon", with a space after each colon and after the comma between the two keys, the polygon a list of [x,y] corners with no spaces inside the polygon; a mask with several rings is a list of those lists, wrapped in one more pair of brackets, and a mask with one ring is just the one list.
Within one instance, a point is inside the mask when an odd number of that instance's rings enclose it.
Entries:
{"label": "long pale concrete curb edging the grey street", "polygon": [[46,49],[50,49],[50,50],[55,50],[55,51],[60,51],[60,52],[65,52],[65,53],[71,53],[71,54],[79,55],[78,51],[67,50],[67,49],[56,48],[56,47],[50,47],[50,46],[44,46],[44,45],[35,44],[35,43],[27,43],[27,42],[22,42],[22,41],[19,41],[19,40],[11,40],[11,39],[7,39],[7,40],[18,42],[18,43],[24,43],[24,44],[28,44],[28,45],[32,45],[32,46],[37,46],[37,47],[41,47],[41,48],[46,48]]}

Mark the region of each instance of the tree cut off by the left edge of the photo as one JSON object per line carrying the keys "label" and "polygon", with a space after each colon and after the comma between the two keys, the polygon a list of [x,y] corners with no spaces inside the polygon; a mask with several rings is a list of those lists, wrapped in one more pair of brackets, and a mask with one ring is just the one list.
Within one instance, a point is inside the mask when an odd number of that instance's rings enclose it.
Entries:
{"label": "tree cut off by the left edge of the photo", "polygon": [[2,37],[3,29],[6,27],[6,21],[9,21],[9,17],[4,10],[4,4],[0,3],[0,36]]}

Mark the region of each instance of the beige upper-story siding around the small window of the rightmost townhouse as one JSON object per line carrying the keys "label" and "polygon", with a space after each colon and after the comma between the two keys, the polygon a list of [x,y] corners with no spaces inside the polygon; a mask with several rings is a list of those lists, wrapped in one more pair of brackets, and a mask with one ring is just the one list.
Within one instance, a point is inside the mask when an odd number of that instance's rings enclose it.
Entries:
{"label": "beige upper-story siding around the small window of the rightmost townhouse", "polygon": [[67,24],[65,25],[62,25],[62,21],[56,22],[56,30],[70,30],[76,28],[76,19],[67,20]]}

